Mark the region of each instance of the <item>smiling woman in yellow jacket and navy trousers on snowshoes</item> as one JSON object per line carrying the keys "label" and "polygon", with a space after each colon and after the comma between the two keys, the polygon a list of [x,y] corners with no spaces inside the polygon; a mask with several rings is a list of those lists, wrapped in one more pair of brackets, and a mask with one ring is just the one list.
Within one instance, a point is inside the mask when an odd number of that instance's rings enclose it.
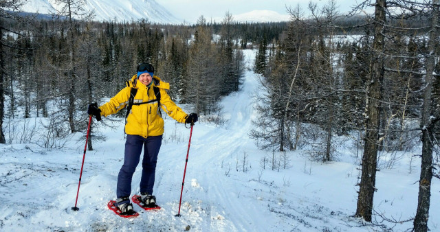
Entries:
{"label": "smiling woman in yellow jacket and navy trousers on snowshoes", "polygon": [[[118,207],[122,215],[134,213],[133,205],[130,202],[131,179],[136,166],[140,161],[142,147],[144,157],[142,159],[142,177],[140,180],[140,200],[144,206],[155,205],[156,198],[153,196],[153,185],[155,180],[155,169],[157,154],[162,144],[164,134],[164,119],[159,110],[159,106],[170,117],[180,123],[195,123],[197,114],[187,115],[170,98],[166,90],[170,89],[170,84],[162,82],[157,76],[153,76],[154,67],[148,63],[137,66],[137,74],[131,78],[130,86],[122,89],[109,102],[98,108],[98,105],[90,104],[87,113],[94,115],[100,120],[100,116],[108,116],[117,113],[122,108],[127,108],[125,124],[126,142],[124,165],[118,174],[118,184],[115,207]],[[133,91],[132,89],[136,89]],[[129,104],[130,95],[132,103]],[[132,105],[130,107],[130,105]]]}

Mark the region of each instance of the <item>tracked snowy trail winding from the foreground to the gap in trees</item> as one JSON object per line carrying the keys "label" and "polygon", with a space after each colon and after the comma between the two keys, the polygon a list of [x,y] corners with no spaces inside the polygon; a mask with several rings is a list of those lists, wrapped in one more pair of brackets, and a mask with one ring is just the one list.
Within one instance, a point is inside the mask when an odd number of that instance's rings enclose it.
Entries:
{"label": "tracked snowy trail winding from the foreground to the gap in trees", "polygon": [[[206,201],[210,207],[210,217],[228,220],[232,224],[224,225],[228,231],[259,231],[258,225],[250,224],[254,221],[264,220],[263,215],[258,215],[256,207],[240,192],[236,192],[236,186],[221,168],[223,161],[233,160],[246,150],[253,147],[248,144],[248,132],[250,130],[253,115],[253,103],[251,94],[256,88],[256,78],[252,73],[247,74],[245,89],[239,93],[225,97],[225,115],[230,115],[230,120],[225,128],[217,128],[199,135],[197,146],[192,154],[197,156],[197,167],[191,167],[195,173],[203,173],[197,181],[206,189]],[[203,132],[201,132],[203,134]],[[244,141],[244,142],[243,142]],[[210,155],[209,155],[210,154]],[[231,165],[230,163],[228,165]],[[256,218],[257,217],[257,218]],[[211,228],[218,229],[219,223],[212,220]]]}

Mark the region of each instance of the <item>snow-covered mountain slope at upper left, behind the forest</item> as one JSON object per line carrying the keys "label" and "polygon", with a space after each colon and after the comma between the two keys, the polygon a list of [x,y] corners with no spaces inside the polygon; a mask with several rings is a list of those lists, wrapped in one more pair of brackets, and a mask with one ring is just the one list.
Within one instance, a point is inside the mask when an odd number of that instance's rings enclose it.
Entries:
{"label": "snow-covered mountain slope at upper left, behind the forest", "polygon": [[[151,23],[181,23],[170,14],[166,8],[154,0],[118,0],[102,1],[87,0],[81,5],[86,12],[95,10],[95,21],[137,21],[148,19]],[[40,14],[51,14],[60,10],[63,5],[58,5],[54,0],[28,0],[23,5],[25,12],[37,12]]]}

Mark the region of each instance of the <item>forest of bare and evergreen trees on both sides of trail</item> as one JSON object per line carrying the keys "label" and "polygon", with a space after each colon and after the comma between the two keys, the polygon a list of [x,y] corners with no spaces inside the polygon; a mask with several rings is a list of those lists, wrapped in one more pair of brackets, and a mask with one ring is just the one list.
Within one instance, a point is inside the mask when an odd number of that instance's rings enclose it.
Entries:
{"label": "forest of bare and evergreen trees on both sides of trail", "polygon": [[[349,15],[329,1],[289,8],[289,22],[236,23],[226,12],[221,23],[200,16],[196,25],[96,22],[76,1],[42,19],[17,14],[19,3],[0,3],[0,143],[52,148],[85,130],[87,105],[118,93],[146,61],[173,100],[221,124],[217,103],[240,89],[242,50],[258,49],[257,146],[309,146],[310,159],[329,162],[338,159],[336,138],[353,139],[363,157],[356,216],[371,221],[377,170],[422,143],[414,229],[427,231],[430,185],[440,177],[439,0],[362,1]],[[14,119],[32,117],[49,119],[44,139],[17,134]],[[377,163],[382,152],[392,158]]]}

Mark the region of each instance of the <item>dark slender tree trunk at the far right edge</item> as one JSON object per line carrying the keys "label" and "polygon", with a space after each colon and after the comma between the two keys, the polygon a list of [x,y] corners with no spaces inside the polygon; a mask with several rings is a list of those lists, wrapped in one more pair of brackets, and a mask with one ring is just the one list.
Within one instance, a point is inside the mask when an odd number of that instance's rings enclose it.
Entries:
{"label": "dark slender tree trunk at the far right edge", "polygon": [[423,93],[423,110],[421,112],[421,170],[419,181],[419,200],[414,219],[414,231],[428,231],[428,218],[432,181],[432,74],[435,65],[435,40],[437,39],[437,21],[439,20],[439,0],[432,1],[432,24],[428,42],[429,56],[426,62],[426,88]]}

